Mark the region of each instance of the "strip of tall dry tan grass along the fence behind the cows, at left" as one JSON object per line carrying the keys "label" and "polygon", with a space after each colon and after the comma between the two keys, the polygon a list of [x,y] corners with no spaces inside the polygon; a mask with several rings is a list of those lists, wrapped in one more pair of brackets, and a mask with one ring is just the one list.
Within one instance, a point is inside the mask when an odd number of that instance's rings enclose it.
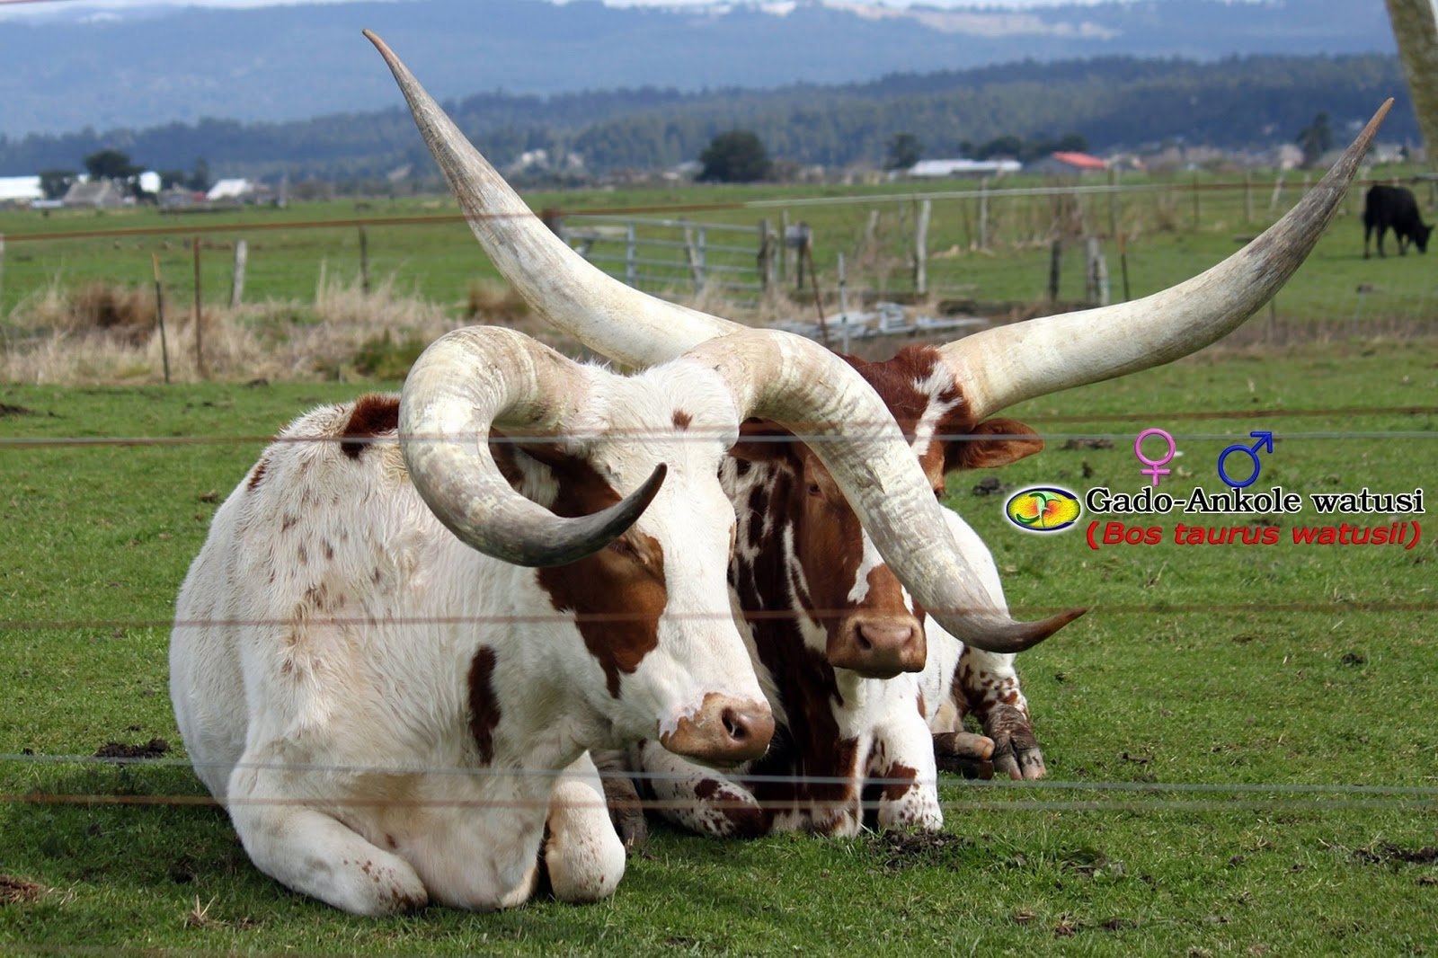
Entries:
{"label": "strip of tall dry tan grass along the fence behind the cows, at left", "polygon": [[[689,305],[745,325],[794,312],[777,302],[745,309],[715,295]],[[476,283],[466,302],[446,306],[400,295],[393,279],[365,292],[358,279],[322,275],[312,304],[206,306],[201,324],[203,368],[187,304],[165,298],[161,338],[152,289],[89,283],[66,291],[52,283],[0,327],[0,378],[60,386],[161,383],[167,352],[170,378],[180,383],[398,378],[418,348],[473,324],[510,327],[567,355],[585,355],[578,342],[551,329],[499,283]]]}

